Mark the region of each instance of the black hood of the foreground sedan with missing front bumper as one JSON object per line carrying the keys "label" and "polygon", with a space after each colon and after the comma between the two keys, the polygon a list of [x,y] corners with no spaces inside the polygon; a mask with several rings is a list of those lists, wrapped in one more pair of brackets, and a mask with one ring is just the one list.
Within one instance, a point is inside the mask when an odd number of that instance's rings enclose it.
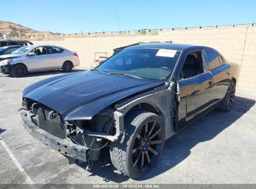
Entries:
{"label": "black hood of the foreground sedan with missing front bumper", "polygon": [[49,106],[65,120],[91,119],[110,104],[163,83],[88,70],[39,81],[22,96]]}

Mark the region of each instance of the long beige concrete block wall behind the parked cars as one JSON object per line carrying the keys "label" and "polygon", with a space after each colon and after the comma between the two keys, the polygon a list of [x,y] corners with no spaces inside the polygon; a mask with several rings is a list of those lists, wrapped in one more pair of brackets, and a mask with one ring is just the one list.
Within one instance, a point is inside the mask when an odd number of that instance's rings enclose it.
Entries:
{"label": "long beige concrete block wall behind the parked cars", "polygon": [[110,56],[113,48],[116,47],[137,42],[169,40],[177,44],[206,45],[216,48],[229,62],[240,65],[238,86],[256,88],[256,26],[163,30],[159,31],[158,35],[66,38],[65,40],[34,41],[34,44],[59,45],[76,51],[81,65],[84,68],[91,68],[95,52],[107,52],[107,56]]}

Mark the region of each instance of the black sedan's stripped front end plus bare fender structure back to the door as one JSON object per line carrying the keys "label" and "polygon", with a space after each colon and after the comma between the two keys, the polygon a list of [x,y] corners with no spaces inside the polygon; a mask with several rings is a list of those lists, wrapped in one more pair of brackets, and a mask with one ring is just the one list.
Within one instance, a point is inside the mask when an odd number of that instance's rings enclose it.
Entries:
{"label": "black sedan's stripped front end plus bare fender structure back to the door", "polygon": [[[165,126],[166,139],[174,134],[173,83],[164,83],[108,104],[92,117],[63,116],[31,98],[22,98],[22,122],[27,131],[50,148],[79,162],[98,160],[100,150],[115,142],[125,130],[125,116],[141,109],[158,114]],[[88,107],[88,106],[87,106]],[[81,114],[80,109],[79,113]],[[88,111],[88,109],[87,109]]]}

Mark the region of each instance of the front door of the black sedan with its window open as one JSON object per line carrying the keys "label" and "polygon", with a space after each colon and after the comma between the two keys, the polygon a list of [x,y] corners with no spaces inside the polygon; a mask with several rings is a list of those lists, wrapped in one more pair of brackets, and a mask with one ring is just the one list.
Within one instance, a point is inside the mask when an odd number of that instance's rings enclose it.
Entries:
{"label": "front door of the black sedan with its window open", "polygon": [[207,71],[202,51],[190,52],[181,70],[179,85],[179,124],[176,131],[203,113],[212,104],[213,76]]}

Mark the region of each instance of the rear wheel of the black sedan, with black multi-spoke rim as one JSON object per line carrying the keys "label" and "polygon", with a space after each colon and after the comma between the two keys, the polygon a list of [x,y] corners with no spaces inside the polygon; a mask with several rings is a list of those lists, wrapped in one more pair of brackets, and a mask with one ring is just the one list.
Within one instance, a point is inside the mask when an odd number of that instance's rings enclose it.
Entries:
{"label": "rear wheel of the black sedan, with black multi-spoke rim", "polygon": [[227,88],[227,93],[225,97],[219,104],[217,108],[219,111],[227,113],[234,106],[234,97],[235,97],[235,81],[231,80],[229,83],[229,87]]}

